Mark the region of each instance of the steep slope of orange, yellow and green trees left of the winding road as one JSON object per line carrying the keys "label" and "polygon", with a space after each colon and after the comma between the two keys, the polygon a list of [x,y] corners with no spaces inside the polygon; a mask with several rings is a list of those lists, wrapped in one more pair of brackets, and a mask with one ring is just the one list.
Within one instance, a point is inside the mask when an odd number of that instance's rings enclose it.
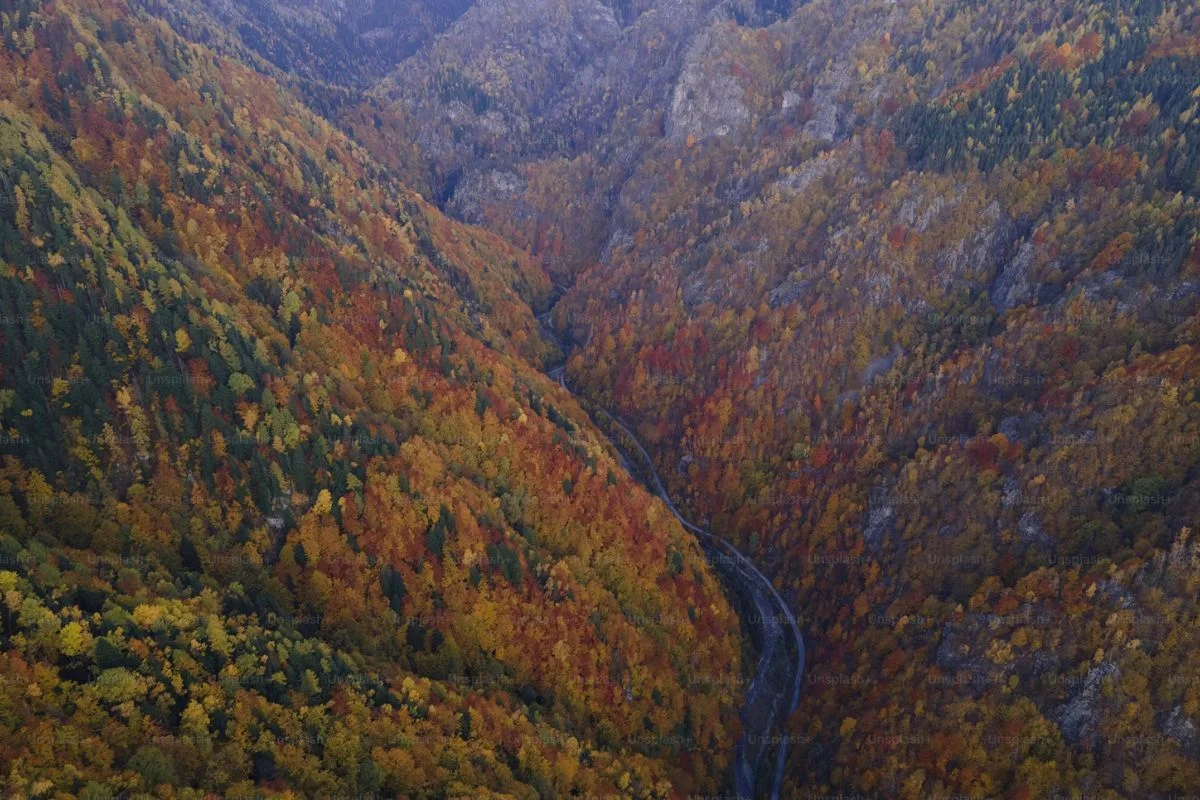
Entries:
{"label": "steep slope of orange, yellow and green trees left of the winding road", "polygon": [[718,789],[737,619],[541,267],[144,10],[0,38],[6,793]]}

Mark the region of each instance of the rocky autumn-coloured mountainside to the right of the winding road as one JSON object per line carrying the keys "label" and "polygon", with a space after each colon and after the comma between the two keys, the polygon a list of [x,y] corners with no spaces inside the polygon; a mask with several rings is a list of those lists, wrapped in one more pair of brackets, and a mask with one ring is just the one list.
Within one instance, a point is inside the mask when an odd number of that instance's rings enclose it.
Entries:
{"label": "rocky autumn-coloured mountainside to the right of the winding road", "polygon": [[797,796],[1196,786],[1194,4],[644,5],[532,66],[468,14],[383,90],[808,615]]}

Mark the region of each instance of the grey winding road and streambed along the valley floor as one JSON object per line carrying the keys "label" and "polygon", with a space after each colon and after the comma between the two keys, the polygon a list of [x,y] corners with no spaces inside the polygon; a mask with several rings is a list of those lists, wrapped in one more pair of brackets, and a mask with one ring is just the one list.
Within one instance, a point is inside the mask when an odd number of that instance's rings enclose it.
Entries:
{"label": "grey winding road and streambed along the valley floor", "polygon": [[[550,312],[538,319],[548,332],[548,337],[565,353],[565,348],[551,327]],[[564,390],[571,391],[566,385],[565,365],[554,367],[548,375]],[[775,590],[774,584],[744,553],[679,512],[667,494],[666,486],[646,446],[623,420],[612,414],[605,413],[605,415],[632,443],[644,474],[653,482],[654,492],[679,523],[696,534],[709,561],[740,595],[746,607],[754,608],[752,616],[744,618],[743,621],[750,627],[758,648],[758,667],[746,691],[745,705],[742,708],[742,738],[734,747],[733,792],[738,798],[768,796],[778,800],[790,744],[787,718],[800,702],[800,685],[804,679],[804,637],[796,615]],[[624,447],[616,440],[612,444],[628,468],[630,462]],[[770,763],[773,753],[774,764]]]}

